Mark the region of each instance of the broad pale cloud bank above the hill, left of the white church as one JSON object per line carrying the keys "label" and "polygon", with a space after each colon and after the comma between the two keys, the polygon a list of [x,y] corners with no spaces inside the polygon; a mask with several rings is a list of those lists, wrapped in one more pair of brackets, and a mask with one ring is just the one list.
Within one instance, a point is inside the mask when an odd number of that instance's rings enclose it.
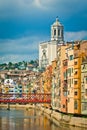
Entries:
{"label": "broad pale cloud bank above the hill, left of the white church", "polygon": [[0,39],[0,63],[38,59],[39,43],[44,39],[43,36]]}

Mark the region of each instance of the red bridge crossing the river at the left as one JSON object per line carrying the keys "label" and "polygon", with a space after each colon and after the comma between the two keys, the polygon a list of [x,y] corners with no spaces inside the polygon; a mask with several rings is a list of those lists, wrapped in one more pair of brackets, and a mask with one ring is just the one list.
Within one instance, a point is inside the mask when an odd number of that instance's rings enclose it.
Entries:
{"label": "red bridge crossing the river at the left", "polygon": [[0,103],[51,103],[51,94],[48,93],[22,93],[3,94],[0,93]]}

